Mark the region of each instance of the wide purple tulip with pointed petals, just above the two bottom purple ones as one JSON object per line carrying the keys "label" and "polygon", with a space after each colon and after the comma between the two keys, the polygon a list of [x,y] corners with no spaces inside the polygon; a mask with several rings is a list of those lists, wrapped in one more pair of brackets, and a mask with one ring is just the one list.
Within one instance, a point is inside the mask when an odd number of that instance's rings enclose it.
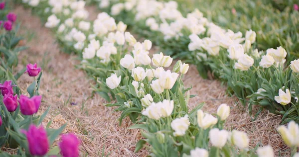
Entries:
{"label": "wide purple tulip with pointed petals, just above the two bottom purple ones", "polygon": [[33,96],[28,98],[25,95],[20,95],[18,100],[20,103],[20,110],[23,115],[32,115],[38,111],[41,102],[41,96]]}

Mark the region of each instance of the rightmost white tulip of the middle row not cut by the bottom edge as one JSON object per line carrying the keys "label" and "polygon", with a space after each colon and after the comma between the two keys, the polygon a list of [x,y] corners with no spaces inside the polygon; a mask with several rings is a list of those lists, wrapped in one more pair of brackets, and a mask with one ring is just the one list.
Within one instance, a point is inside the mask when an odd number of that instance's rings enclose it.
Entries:
{"label": "rightmost white tulip of the middle row not cut by the bottom edge", "polygon": [[232,144],[240,149],[245,149],[249,145],[249,138],[247,134],[242,131],[233,130],[231,138]]}

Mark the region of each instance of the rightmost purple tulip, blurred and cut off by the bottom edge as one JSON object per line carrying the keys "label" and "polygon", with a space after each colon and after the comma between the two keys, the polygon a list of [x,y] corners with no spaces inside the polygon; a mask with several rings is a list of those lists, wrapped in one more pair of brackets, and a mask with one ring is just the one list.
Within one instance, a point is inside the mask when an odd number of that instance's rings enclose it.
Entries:
{"label": "rightmost purple tulip, blurred and cut off by the bottom edge", "polygon": [[62,157],[79,157],[80,140],[72,133],[64,134],[58,144]]}

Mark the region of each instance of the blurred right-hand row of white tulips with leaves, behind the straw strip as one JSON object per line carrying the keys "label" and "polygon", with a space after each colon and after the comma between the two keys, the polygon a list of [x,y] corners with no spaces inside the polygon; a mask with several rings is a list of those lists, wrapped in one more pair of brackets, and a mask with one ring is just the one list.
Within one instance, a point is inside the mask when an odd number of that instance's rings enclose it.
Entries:
{"label": "blurred right-hand row of white tulips with leaves, behind the straw strip", "polygon": [[[273,44],[265,43],[266,39],[260,38],[263,34],[257,36],[255,31],[247,30],[243,37],[242,32],[225,30],[209,22],[197,8],[184,17],[176,1],[101,0],[99,6],[108,8],[119,19],[135,19],[131,25],[150,30],[150,38],[157,45],[177,51],[178,57],[197,66],[203,78],[211,74],[227,82],[229,93],[235,94],[244,105],[249,104],[250,114],[252,105],[259,105],[255,116],[265,108],[283,115],[283,123],[291,120],[299,123],[299,60],[286,62],[286,57],[298,56],[287,53],[281,46],[267,49]],[[292,17],[298,13],[292,11]],[[290,28],[298,25],[297,21],[294,19]],[[286,37],[294,38],[293,46],[283,44],[292,53],[298,49],[297,36],[298,32],[294,37]]]}

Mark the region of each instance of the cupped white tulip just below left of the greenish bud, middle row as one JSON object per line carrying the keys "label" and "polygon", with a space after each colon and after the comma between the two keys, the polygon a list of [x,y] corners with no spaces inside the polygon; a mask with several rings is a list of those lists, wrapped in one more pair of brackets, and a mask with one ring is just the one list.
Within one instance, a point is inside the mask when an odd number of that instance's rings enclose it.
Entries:
{"label": "cupped white tulip just below left of the greenish bud, middle row", "polygon": [[178,77],[177,73],[171,73],[170,70],[163,71],[159,76],[159,83],[164,89],[171,89]]}

